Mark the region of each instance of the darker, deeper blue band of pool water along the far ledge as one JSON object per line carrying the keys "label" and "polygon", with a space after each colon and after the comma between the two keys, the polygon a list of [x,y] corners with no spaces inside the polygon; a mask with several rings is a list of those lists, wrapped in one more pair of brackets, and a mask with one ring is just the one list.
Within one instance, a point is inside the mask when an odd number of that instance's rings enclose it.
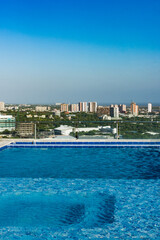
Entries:
{"label": "darker, deeper blue band of pool water along the far ledge", "polygon": [[12,148],[0,153],[0,177],[156,179],[159,148]]}

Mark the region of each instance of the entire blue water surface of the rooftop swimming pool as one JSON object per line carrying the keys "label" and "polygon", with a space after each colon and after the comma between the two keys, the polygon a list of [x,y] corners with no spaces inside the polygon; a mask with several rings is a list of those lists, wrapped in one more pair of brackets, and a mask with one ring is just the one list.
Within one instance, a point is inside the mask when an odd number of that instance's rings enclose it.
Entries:
{"label": "entire blue water surface of the rooftop swimming pool", "polygon": [[160,149],[0,151],[0,239],[160,239]]}

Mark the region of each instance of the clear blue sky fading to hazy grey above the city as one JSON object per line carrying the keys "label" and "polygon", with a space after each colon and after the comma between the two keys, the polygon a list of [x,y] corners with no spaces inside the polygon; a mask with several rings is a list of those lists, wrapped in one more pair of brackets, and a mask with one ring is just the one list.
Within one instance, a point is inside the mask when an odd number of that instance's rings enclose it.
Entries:
{"label": "clear blue sky fading to hazy grey above the city", "polygon": [[0,101],[159,96],[160,0],[0,1]]}

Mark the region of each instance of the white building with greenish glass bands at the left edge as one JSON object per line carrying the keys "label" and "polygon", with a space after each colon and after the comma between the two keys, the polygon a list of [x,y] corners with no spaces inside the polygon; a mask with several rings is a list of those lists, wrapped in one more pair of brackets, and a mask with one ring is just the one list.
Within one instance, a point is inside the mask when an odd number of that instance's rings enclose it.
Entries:
{"label": "white building with greenish glass bands at the left edge", "polygon": [[0,115],[0,132],[15,130],[15,117],[12,115]]}

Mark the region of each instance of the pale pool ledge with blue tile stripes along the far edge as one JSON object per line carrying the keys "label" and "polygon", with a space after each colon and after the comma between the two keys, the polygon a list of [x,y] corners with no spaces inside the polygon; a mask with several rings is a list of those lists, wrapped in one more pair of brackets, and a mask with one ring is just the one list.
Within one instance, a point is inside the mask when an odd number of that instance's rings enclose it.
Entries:
{"label": "pale pool ledge with blue tile stripes along the far edge", "polygon": [[160,147],[160,139],[0,139],[0,149],[8,147]]}

